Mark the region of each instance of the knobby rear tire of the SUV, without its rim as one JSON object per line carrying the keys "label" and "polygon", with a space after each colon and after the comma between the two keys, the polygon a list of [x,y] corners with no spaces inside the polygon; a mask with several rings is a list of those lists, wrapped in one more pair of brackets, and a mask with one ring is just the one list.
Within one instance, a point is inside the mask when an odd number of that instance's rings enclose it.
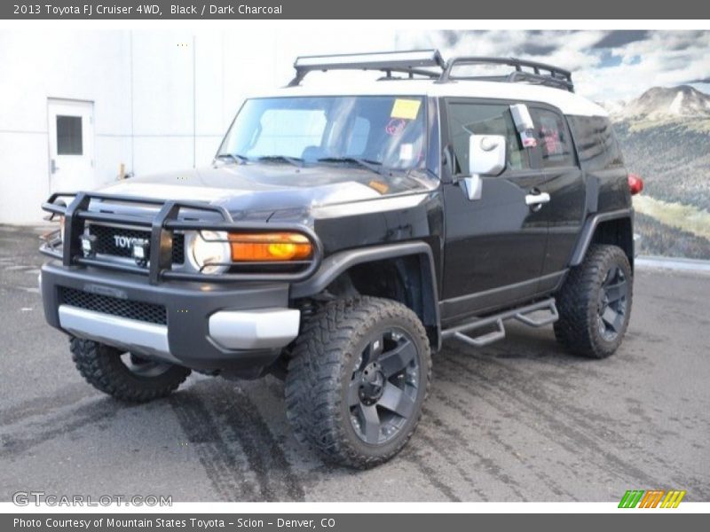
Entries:
{"label": "knobby rear tire of the SUV, without its rim", "polygon": [[[599,328],[600,293],[604,278],[617,266],[627,279],[626,310],[623,323],[612,339],[604,338]],[[631,314],[633,275],[627,255],[619,246],[590,246],[579,266],[572,268],[564,286],[556,294],[560,318],[555,323],[555,336],[574,355],[606,358],[619,348]]]}

